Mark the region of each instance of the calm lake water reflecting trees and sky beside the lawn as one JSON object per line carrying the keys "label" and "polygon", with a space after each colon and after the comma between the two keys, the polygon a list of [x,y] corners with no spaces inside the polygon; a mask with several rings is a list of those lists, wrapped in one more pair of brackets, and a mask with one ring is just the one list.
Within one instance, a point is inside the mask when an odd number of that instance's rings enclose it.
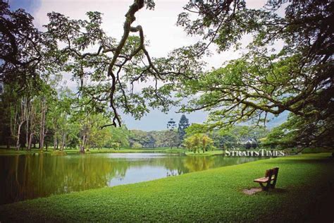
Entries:
{"label": "calm lake water reflecting trees and sky beside the lawn", "polygon": [[0,204],[150,181],[256,159],[161,153],[0,156]]}

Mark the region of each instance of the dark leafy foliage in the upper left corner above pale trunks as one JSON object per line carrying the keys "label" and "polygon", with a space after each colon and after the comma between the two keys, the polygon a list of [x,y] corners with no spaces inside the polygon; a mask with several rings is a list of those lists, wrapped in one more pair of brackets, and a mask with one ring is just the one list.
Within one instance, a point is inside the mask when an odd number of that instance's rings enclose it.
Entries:
{"label": "dark leafy foliage in the upper left corner above pale trunks", "polygon": [[5,86],[16,83],[19,91],[39,90],[61,61],[51,58],[56,42],[35,28],[33,19],[24,9],[11,11],[0,1],[0,79]]}

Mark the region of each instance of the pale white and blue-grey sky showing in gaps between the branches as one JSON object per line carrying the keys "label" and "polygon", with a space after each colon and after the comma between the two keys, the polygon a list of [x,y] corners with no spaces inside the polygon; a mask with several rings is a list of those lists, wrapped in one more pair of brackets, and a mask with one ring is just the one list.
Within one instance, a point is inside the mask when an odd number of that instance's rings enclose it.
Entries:
{"label": "pale white and blue-grey sky showing in gaps between the branches", "polygon": [[[6,1],[6,0],[5,0]],[[142,25],[145,39],[149,40],[147,47],[151,57],[166,56],[173,49],[190,45],[197,42],[199,37],[189,37],[180,28],[175,25],[178,14],[183,11],[183,6],[188,0],[156,0],[154,11],[142,8],[136,13],[135,24]],[[47,13],[55,11],[62,13],[70,18],[87,18],[87,11],[99,11],[103,13],[102,28],[106,34],[116,37],[120,40],[123,34],[124,15],[128,11],[128,7],[132,4],[132,0],[8,0],[12,9],[25,8],[27,12],[35,18],[35,25],[41,30],[42,25],[48,23]],[[249,0],[247,6],[259,8],[264,6],[264,0]],[[242,40],[243,46],[249,42],[249,38]],[[206,57],[204,60],[208,64],[207,68],[218,68],[225,61],[237,59],[245,49],[238,51],[229,50],[221,54],[216,53],[214,45],[210,47],[214,54]],[[63,78],[69,88],[75,89],[76,83],[70,81],[70,74],[64,74]],[[166,123],[169,119],[176,122],[180,120],[182,114],[175,113],[178,108],[172,108],[168,114],[161,111],[152,110],[149,114],[140,120],[135,120],[131,116],[122,116],[123,123],[130,129],[142,129],[144,131],[163,130],[166,129]],[[185,114],[190,123],[202,123],[206,120],[207,113],[204,111],[196,111],[191,114]],[[270,126],[276,126],[286,119],[287,114],[279,116],[273,120]]]}

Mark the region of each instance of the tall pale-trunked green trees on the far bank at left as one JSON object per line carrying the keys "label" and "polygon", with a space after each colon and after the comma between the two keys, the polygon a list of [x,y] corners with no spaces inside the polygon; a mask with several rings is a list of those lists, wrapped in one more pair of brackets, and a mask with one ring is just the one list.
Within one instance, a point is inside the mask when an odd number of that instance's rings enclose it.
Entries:
{"label": "tall pale-trunked green trees on the far bank at left", "polygon": [[[110,122],[106,111],[101,113],[87,104],[85,96],[77,97],[68,88],[61,88],[61,78],[44,83],[42,90],[20,92],[6,85],[1,95],[0,144],[16,150],[64,150],[89,147],[127,145],[122,131],[126,128],[101,128]],[[126,135],[125,135],[126,136]]]}

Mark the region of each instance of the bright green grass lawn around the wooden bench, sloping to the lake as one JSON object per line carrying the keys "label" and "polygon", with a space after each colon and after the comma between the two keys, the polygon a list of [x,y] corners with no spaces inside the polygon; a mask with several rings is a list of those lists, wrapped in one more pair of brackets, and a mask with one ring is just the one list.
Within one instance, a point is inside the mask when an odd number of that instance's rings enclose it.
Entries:
{"label": "bright green grass lawn around the wooden bench, sloping to the lake", "polygon": [[[275,190],[242,193],[272,167],[280,167]],[[333,222],[333,170],[329,153],[261,159],[2,205],[0,222]]]}

